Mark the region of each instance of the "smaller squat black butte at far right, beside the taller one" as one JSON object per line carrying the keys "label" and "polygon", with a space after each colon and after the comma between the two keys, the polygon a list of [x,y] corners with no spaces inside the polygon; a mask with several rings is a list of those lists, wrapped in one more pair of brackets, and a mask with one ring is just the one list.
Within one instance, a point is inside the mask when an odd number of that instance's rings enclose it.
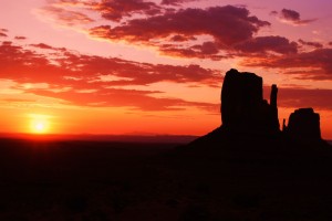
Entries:
{"label": "smaller squat black butte at far right, beside the taller one", "polygon": [[290,115],[288,126],[284,126],[283,131],[297,141],[320,141],[320,115],[312,108],[297,109]]}

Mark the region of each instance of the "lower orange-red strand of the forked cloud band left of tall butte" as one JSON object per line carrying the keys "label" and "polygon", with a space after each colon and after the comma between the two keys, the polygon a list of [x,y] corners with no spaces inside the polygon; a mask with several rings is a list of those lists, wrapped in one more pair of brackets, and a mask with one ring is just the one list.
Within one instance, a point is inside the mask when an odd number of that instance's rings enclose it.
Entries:
{"label": "lower orange-red strand of the forked cloud band left of tall butte", "polygon": [[198,107],[206,110],[217,109],[218,104],[187,102],[180,98],[159,98],[151,96],[155,92],[107,88],[96,93],[59,92],[46,90],[27,90],[48,97],[61,98],[80,106],[127,106],[142,110],[180,110],[186,107]]}

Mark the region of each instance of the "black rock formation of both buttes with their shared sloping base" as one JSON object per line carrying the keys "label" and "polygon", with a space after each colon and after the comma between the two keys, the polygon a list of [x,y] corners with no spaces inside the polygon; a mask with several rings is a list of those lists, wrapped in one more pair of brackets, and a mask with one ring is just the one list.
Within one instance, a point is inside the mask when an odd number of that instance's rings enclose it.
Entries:
{"label": "black rock formation of both buttes with their shared sloping base", "polygon": [[226,73],[221,88],[221,126],[189,146],[234,147],[251,143],[252,146],[276,146],[277,149],[283,146],[289,149],[298,144],[324,143],[321,139],[320,116],[312,108],[300,108],[292,113],[288,126],[283,120],[281,133],[277,101],[277,85],[271,87],[268,104],[263,99],[262,77],[231,69]]}

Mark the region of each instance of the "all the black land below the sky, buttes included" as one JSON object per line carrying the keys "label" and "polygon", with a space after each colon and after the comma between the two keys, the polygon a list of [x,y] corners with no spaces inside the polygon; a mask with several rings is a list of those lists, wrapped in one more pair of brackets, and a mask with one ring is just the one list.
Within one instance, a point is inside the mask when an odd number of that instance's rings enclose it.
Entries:
{"label": "all the black land below the sky, buttes included", "polygon": [[222,125],[187,145],[0,140],[0,220],[331,220],[319,114],[279,128],[278,87],[230,70]]}

